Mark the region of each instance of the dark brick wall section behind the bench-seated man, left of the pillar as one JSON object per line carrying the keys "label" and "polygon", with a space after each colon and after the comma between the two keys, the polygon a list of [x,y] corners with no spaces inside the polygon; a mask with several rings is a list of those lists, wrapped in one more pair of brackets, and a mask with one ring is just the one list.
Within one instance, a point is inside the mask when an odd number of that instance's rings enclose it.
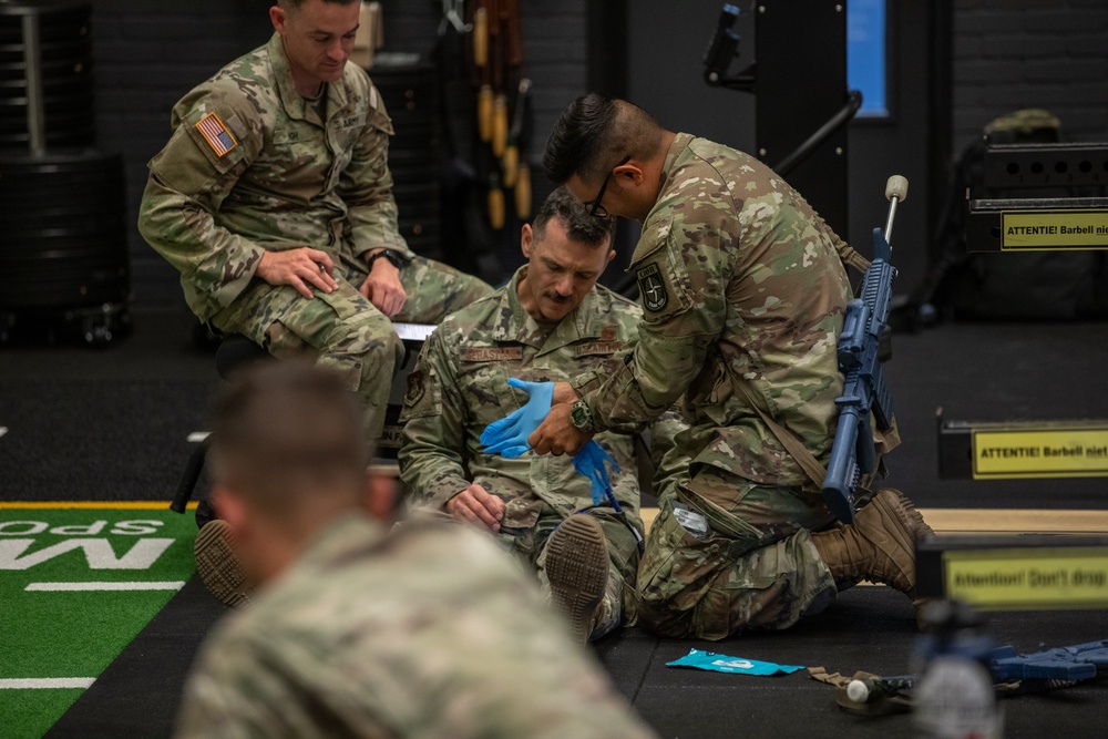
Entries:
{"label": "dark brick wall section behind the bench-seated man, left of the pillar", "polygon": [[[269,0],[91,0],[99,146],[122,151],[127,167],[127,219],[135,298],[183,302],[177,274],[142,240],[133,224],[146,162],[168,140],[170,109],[223,64],[265,43]],[[386,51],[427,54],[438,29],[430,0],[384,0]],[[522,0],[525,70],[534,81],[535,132],[550,131],[586,85],[585,0]],[[529,160],[541,157],[535,135]],[[534,168],[534,167],[533,167]],[[540,175],[541,177],[541,175]],[[536,177],[535,198],[547,186]]]}

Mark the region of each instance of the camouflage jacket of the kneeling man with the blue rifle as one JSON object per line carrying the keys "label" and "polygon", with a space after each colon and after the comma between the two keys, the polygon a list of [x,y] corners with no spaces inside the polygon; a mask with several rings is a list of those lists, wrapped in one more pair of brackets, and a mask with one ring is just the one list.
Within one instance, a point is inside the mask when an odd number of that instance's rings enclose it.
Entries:
{"label": "camouflage jacket of the kneeling man with the blue rifle", "polygon": [[630,362],[589,388],[594,422],[649,419],[685,393],[693,428],[678,442],[694,465],[814,489],[735,387],[827,463],[853,254],[766,165],[677,134],[632,256],[639,341]]}

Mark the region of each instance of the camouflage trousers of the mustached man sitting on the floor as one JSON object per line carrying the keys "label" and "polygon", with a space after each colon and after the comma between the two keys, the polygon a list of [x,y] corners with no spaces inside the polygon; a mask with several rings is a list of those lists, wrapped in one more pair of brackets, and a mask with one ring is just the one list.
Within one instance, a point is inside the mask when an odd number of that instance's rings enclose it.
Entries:
{"label": "camouflage trousers of the mustached man sitting on the floor", "polygon": [[[635,622],[635,574],[638,571],[638,541],[623,519],[612,509],[583,509],[601,523],[604,540],[608,545],[608,584],[604,592],[589,630],[589,640],[611,633],[620,624],[630,626]],[[538,521],[532,528],[501,528],[501,544],[520,557],[532,569],[537,571],[543,593],[550,597],[550,581],[546,578],[546,550],[551,534],[565,516],[550,505],[544,505]]]}

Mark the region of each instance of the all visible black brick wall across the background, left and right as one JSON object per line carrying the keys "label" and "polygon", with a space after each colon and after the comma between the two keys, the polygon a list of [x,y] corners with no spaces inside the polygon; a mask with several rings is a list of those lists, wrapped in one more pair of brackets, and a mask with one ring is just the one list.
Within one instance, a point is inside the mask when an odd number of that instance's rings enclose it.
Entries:
{"label": "all visible black brick wall across the background, left and right", "polygon": [[[91,0],[100,146],[127,164],[129,220],[146,161],[168,137],[168,111],[193,84],[269,37],[269,0]],[[589,1],[521,0],[534,80],[530,158],[574,96],[586,91]],[[389,51],[430,50],[430,0],[384,0]],[[1077,140],[1108,138],[1108,0],[956,0],[954,153],[1005,112],[1043,106]],[[919,60],[925,64],[926,60]],[[923,142],[921,142],[923,145]],[[536,178],[536,201],[546,185]],[[135,296],[181,301],[176,273],[131,234]]]}

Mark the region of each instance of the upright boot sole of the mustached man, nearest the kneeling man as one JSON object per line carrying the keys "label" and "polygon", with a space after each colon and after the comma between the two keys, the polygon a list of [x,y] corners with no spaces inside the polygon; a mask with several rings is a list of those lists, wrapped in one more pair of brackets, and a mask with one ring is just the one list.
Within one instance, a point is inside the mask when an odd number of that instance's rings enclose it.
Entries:
{"label": "upright boot sole of the mustached man, nearest the kneeling man", "polygon": [[551,534],[546,578],[551,584],[551,602],[570,619],[574,634],[584,644],[608,584],[608,547],[604,530],[595,519],[571,515]]}

